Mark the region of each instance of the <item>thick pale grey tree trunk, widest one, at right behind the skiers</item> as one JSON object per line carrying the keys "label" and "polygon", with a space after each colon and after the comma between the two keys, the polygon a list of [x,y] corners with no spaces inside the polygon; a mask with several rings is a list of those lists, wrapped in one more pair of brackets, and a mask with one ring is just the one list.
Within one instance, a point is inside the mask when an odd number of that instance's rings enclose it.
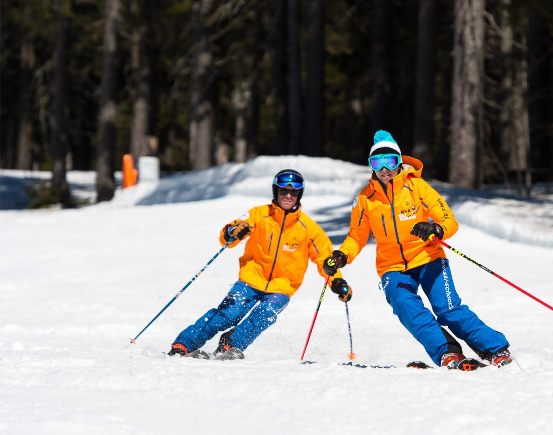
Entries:
{"label": "thick pale grey tree trunk, widest one, at right behind the skiers", "polygon": [[483,11],[484,0],[455,0],[449,181],[467,188],[482,181]]}

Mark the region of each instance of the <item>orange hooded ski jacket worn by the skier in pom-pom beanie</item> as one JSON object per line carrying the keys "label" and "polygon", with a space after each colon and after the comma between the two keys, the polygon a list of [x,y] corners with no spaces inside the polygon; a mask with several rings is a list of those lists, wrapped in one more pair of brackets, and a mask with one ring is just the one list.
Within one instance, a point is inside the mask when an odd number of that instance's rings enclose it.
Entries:
{"label": "orange hooded ski jacket worn by the skier in pom-pom beanie", "polygon": [[373,173],[369,184],[353,201],[349,233],[340,250],[348,264],[367,244],[369,233],[377,243],[377,272],[413,269],[445,258],[442,246],[410,234],[417,222],[434,222],[444,228],[444,240],[457,232],[459,224],[444,198],[421,179],[422,163],[401,156],[403,170],[388,182],[387,193]]}

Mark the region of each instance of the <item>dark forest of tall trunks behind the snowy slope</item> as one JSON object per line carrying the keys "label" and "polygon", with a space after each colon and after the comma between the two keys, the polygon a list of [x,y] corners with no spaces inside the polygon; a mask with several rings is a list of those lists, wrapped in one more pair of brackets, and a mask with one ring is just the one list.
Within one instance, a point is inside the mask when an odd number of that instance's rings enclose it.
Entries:
{"label": "dark forest of tall trunks behind the snowy slope", "polygon": [[52,171],[43,202],[72,206],[68,170],[110,200],[127,153],[165,173],[367,164],[379,129],[429,178],[553,181],[550,0],[4,0],[0,17],[0,167]]}

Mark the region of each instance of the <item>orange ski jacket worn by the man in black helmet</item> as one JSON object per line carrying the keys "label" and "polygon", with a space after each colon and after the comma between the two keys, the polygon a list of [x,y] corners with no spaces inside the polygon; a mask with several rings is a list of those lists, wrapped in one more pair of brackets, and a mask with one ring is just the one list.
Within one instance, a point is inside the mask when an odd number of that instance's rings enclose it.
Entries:
{"label": "orange ski jacket worn by the man in black helmet", "polygon": [[[252,231],[240,257],[239,280],[257,290],[292,296],[304,279],[308,259],[326,277],[322,264],[332,255],[332,243],[301,207],[293,213],[285,213],[274,204],[254,207],[231,225],[238,221],[248,222]],[[224,234],[225,228],[219,237],[221,245],[226,244]],[[228,247],[239,242],[235,240]],[[339,271],[332,280],[336,278],[342,278]]]}

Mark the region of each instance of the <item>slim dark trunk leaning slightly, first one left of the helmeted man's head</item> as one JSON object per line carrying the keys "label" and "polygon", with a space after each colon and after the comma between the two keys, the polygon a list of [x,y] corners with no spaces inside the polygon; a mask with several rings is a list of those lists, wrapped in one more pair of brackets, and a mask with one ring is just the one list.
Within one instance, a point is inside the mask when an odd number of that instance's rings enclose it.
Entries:
{"label": "slim dark trunk leaning slightly, first one left of the helmeted man's head", "polygon": [[247,126],[247,158],[258,154],[259,146],[259,113],[260,97],[259,82],[261,81],[261,61],[263,60],[263,4],[262,0],[255,0],[254,18],[254,52],[253,68],[251,75],[251,104],[249,111],[249,123]]}

